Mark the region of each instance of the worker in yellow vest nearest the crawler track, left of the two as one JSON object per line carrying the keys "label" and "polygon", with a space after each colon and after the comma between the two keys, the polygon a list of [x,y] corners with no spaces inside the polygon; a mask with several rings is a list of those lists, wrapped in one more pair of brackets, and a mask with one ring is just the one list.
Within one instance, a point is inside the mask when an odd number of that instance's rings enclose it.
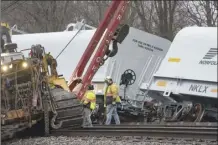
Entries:
{"label": "worker in yellow vest nearest the crawler track, left of the two", "polygon": [[89,85],[82,100],[84,105],[83,127],[92,127],[91,113],[96,107],[96,95],[93,90],[94,86]]}

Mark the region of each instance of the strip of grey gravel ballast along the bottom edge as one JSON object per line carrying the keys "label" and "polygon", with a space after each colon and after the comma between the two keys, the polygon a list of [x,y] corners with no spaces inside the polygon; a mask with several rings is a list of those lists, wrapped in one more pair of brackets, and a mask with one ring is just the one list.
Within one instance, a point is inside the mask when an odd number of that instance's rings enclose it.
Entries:
{"label": "strip of grey gravel ballast along the bottom edge", "polygon": [[149,137],[37,137],[2,142],[2,145],[217,145],[217,141]]}

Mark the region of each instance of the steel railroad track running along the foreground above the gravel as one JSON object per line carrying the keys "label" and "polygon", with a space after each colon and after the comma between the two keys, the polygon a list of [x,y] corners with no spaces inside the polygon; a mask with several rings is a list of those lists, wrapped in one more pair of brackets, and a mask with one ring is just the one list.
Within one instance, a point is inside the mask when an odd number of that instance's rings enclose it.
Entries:
{"label": "steel railroad track running along the foreground above the gravel", "polygon": [[217,140],[217,125],[96,125],[92,128],[63,128],[51,136],[146,136]]}

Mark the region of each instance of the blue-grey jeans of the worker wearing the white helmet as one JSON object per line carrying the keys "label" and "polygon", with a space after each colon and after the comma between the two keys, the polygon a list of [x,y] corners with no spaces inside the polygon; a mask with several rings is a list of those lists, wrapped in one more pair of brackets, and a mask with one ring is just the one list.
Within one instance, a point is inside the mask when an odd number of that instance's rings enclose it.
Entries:
{"label": "blue-grey jeans of the worker wearing the white helmet", "polygon": [[112,117],[114,117],[115,123],[117,125],[120,124],[120,118],[119,118],[118,113],[117,113],[117,105],[116,104],[107,105],[106,113],[107,113],[107,120],[105,122],[106,125],[111,124]]}

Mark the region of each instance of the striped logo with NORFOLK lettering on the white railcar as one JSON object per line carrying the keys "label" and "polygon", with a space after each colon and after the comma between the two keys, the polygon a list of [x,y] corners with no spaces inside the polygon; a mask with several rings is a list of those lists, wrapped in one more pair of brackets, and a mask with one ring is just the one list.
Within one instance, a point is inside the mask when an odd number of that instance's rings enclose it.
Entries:
{"label": "striped logo with NORFOLK lettering on the white railcar", "polygon": [[210,48],[210,50],[206,53],[206,55],[199,62],[199,64],[217,65],[217,61],[211,60],[214,57],[217,57],[217,48]]}

